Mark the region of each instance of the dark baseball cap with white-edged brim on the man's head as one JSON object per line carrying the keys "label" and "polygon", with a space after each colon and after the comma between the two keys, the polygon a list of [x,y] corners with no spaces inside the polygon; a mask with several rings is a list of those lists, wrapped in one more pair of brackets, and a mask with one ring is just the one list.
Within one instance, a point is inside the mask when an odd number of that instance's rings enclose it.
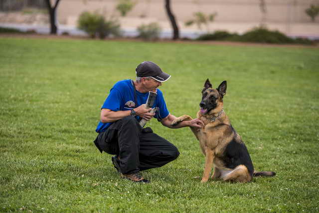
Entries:
{"label": "dark baseball cap with white-edged brim on the man's head", "polygon": [[144,61],[136,67],[137,77],[152,77],[157,81],[164,82],[170,78],[170,75],[161,71],[160,67],[152,61]]}

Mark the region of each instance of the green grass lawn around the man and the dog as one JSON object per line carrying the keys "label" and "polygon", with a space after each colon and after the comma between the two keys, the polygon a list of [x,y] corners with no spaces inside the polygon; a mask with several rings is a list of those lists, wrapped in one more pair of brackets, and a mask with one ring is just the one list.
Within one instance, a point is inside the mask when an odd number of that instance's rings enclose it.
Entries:
{"label": "green grass lawn around the man and the dog", "polygon": [[[93,144],[112,85],[152,60],[171,114],[195,116],[209,78],[254,167],[274,178],[200,184],[204,157],[188,128],[148,126],[179,158],[120,179]],[[0,38],[0,211],[319,212],[319,49]]]}

